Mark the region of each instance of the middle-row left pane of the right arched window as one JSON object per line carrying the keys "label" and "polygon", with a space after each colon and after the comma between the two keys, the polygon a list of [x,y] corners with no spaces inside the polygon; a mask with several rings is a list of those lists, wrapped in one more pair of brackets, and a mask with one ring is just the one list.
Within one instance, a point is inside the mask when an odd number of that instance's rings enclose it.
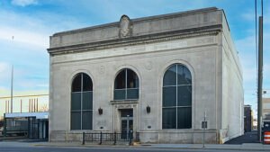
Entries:
{"label": "middle-row left pane of the right arched window", "polygon": [[176,106],[176,86],[163,87],[163,107]]}

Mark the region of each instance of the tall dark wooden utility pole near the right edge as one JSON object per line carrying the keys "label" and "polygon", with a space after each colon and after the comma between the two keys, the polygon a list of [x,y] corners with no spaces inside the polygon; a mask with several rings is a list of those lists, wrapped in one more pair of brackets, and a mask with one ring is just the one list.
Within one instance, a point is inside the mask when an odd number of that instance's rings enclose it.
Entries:
{"label": "tall dark wooden utility pole near the right edge", "polygon": [[262,88],[263,88],[263,17],[259,16],[258,87],[257,87],[257,139],[262,140]]}

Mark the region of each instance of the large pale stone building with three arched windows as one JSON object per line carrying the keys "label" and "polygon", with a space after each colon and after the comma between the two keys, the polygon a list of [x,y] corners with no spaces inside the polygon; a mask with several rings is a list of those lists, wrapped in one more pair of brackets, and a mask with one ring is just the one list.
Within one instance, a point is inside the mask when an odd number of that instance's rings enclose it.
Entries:
{"label": "large pale stone building with three arched windows", "polygon": [[53,34],[49,140],[139,132],[142,143],[223,143],[243,134],[242,69],[215,7]]}

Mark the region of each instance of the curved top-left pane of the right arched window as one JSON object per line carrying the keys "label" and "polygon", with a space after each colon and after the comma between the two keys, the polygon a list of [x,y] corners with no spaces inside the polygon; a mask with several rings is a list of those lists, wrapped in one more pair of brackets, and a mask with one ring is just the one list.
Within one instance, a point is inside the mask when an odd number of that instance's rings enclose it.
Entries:
{"label": "curved top-left pane of the right arched window", "polygon": [[163,86],[176,85],[176,65],[169,67],[163,78]]}

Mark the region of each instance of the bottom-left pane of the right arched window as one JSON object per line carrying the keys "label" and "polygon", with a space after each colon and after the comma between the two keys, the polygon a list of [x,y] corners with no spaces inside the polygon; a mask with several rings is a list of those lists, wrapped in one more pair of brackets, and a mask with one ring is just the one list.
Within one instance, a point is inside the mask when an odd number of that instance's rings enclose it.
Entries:
{"label": "bottom-left pane of the right arched window", "polygon": [[176,108],[163,108],[162,129],[176,128]]}

